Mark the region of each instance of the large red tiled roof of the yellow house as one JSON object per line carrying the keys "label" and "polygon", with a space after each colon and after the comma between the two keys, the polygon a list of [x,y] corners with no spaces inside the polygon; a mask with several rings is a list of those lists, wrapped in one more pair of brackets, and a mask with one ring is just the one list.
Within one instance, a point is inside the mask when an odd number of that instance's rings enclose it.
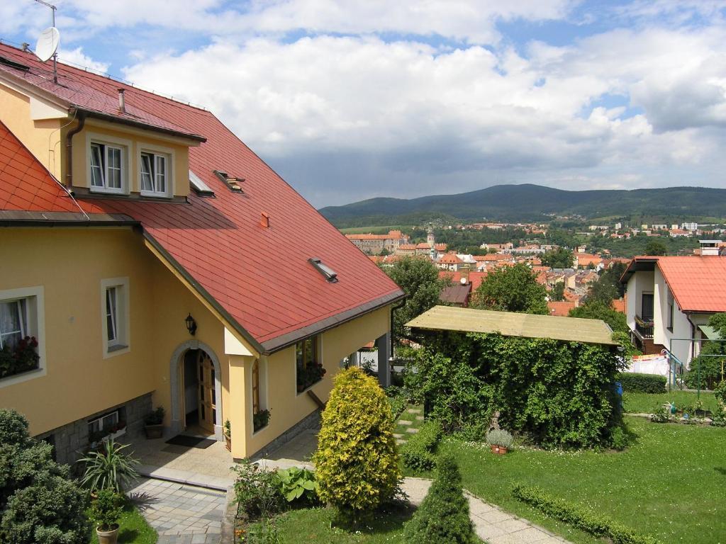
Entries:
{"label": "large red tiled roof of the yellow house", "polygon": [[[256,349],[281,349],[403,296],[375,263],[211,112],[62,63],[56,84],[49,66],[5,44],[0,44],[0,56],[28,67],[0,63],[3,77],[121,123],[126,116],[118,112],[118,88],[124,88],[126,112],[144,128],[200,143],[189,148],[189,169],[214,191],[214,198],[194,191],[188,204],[78,197],[79,206],[91,217],[126,216],[139,223],[152,247]],[[7,128],[0,138],[6,142],[1,148],[1,210],[81,215],[52,176],[18,151],[19,142]],[[243,194],[230,191],[213,170],[245,178]],[[184,178],[186,173],[181,183],[187,183]],[[269,215],[269,228],[261,226],[261,213]],[[269,258],[280,255],[287,265],[273,273]],[[332,268],[338,282],[327,282],[309,263],[311,257]]]}

